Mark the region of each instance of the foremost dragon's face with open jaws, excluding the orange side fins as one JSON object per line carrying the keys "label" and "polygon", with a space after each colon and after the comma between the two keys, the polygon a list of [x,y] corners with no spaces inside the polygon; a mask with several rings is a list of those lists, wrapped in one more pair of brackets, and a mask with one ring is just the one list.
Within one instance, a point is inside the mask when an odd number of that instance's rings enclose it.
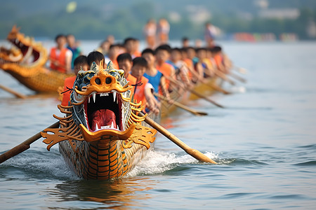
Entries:
{"label": "foremost dragon's face with open jaws, excluding the orange side fins", "polygon": [[[103,63],[100,63],[103,66]],[[131,89],[124,71],[99,69],[95,62],[88,71],[79,71],[70,95],[72,116],[84,136],[92,139],[111,135],[128,139],[133,132],[133,121],[139,121],[133,111],[140,104],[131,102]],[[131,119],[131,117],[133,119]]]}

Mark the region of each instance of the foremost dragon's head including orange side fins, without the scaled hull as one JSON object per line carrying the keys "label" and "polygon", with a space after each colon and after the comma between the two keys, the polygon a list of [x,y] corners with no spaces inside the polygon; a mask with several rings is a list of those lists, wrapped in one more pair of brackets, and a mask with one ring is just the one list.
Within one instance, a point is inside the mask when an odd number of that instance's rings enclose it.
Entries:
{"label": "foremost dragon's head including orange side fins, without the scaled hull", "polygon": [[[103,66],[103,61],[100,66]],[[49,144],[48,150],[53,144],[67,139],[88,142],[119,139],[149,148],[156,131],[140,125],[145,118],[137,116],[142,110],[141,102],[131,102],[131,88],[124,78],[124,71],[113,69],[112,62],[107,69],[99,69],[93,62],[90,70],[79,71],[70,94],[71,106],[58,105],[67,116],[54,116],[60,120],[61,127],[42,132],[42,136],[47,138],[44,143]],[[140,130],[143,131],[139,133]]]}

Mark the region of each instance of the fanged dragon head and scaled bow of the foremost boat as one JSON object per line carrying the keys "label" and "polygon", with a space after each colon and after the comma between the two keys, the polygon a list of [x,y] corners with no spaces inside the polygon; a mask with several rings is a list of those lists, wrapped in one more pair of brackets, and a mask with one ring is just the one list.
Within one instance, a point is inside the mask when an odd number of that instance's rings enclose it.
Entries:
{"label": "fanged dragon head and scaled bow of the foremost boat", "polygon": [[93,62],[91,70],[79,71],[69,106],[58,105],[65,117],[54,115],[60,127],[41,132],[48,151],[58,143],[67,165],[83,179],[126,175],[152,148],[157,132],[138,116],[142,106],[131,101],[131,88],[112,62],[107,69]]}

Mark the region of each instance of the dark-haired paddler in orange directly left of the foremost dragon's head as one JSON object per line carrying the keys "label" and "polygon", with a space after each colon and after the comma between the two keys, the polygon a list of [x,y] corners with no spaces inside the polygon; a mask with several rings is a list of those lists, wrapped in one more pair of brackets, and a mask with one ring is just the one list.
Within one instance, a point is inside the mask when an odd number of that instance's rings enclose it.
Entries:
{"label": "dark-haired paddler in orange directly left of the foremost dragon's head", "polygon": [[88,59],[85,55],[79,55],[74,59],[74,74],[75,76],[65,79],[64,88],[62,90],[62,106],[68,106],[70,101],[70,90],[74,86],[74,80],[76,80],[77,74],[80,70],[87,71],[89,69]]}

